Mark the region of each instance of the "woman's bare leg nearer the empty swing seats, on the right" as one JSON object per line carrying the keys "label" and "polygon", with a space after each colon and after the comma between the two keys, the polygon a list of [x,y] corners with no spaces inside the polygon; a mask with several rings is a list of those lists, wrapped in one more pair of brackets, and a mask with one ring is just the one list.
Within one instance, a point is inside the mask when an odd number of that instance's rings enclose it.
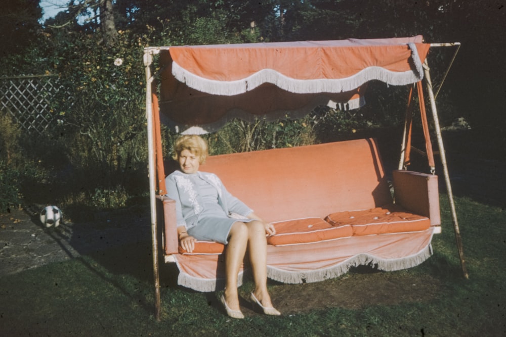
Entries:
{"label": "woman's bare leg nearer the empty swing seats, on the right", "polygon": [[248,227],[249,261],[255,280],[255,297],[264,307],[272,307],[267,291],[267,238],[265,224],[262,221],[246,223]]}

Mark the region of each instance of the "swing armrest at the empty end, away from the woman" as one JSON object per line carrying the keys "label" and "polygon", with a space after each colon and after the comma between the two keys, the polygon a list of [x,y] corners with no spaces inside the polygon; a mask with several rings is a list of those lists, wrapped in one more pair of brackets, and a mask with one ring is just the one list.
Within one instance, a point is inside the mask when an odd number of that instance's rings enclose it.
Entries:
{"label": "swing armrest at the empty end, away from the woman", "polygon": [[414,214],[428,217],[431,226],[441,225],[437,175],[395,170],[393,184],[396,204]]}

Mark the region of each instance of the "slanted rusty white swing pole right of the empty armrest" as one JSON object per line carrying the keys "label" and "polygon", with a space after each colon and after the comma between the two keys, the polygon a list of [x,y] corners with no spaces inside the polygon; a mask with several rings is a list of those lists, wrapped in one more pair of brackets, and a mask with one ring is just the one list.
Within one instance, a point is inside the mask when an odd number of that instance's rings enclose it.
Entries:
{"label": "slanted rusty white swing pole right of the empty armrest", "polygon": [[462,273],[465,278],[469,278],[469,273],[466,267],[466,260],[464,259],[463,247],[462,247],[462,238],[460,236],[460,229],[457,221],[457,213],[455,211],[455,203],[453,201],[453,192],[450,184],[450,175],[448,173],[448,165],[446,163],[446,155],[444,152],[443,138],[441,136],[441,128],[439,126],[439,117],[438,112],[436,110],[436,99],[434,97],[434,91],[432,90],[432,81],[430,75],[430,68],[427,62],[427,59],[424,62],[424,73],[425,73],[425,82],[427,85],[427,91],[429,93],[429,100],[431,103],[431,111],[434,120],[434,126],[436,129],[436,136],[438,140],[439,153],[441,155],[441,164],[443,165],[444,178],[446,182],[446,189],[448,192],[448,201],[450,203],[451,217],[453,219],[453,228],[455,230],[455,240],[457,244],[458,256],[460,258],[460,265],[462,268]]}

